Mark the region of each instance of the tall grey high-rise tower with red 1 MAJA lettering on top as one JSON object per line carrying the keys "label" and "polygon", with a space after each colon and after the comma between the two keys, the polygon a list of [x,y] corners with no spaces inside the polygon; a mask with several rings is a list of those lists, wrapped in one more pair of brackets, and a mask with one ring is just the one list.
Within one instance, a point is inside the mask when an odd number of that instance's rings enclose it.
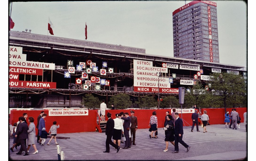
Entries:
{"label": "tall grey high-rise tower with red 1 MAJA lettering on top", "polygon": [[219,63],[216,7],[195,0],[172,12],[174,57]]}

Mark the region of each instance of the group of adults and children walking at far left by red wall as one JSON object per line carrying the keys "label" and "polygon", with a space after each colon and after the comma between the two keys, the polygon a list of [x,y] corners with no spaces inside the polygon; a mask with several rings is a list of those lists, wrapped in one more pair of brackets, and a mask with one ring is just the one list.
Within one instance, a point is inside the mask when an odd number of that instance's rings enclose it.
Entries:
{"label": "group of adults and children walking at far left by red wall", "polygon": [[[49,133],[46,131],[45,128],[45,118],[47,114],[44,113],[44,111],[41,111],[40,115],[37,117],[37,126],[34,124],[34,117],[29,117],[27,113],[23,113],[23,116],[19,117],[18,122],[14,123],[13,128],[13,145],[10,148],[12,152],[14,152],[14,148],[18,148],[20,146],[20,150],[16,153],[17,155],[22,155],[22,152],[24,152],[24,156],[29,155],[29,149],[32,145],[34,152],[32,154],[37,154],[38,150],[36,147],[36,128],[37,128],[37,142],[39,145],[44,145],[44,142],[47,139],[47,135],[52,135],[52,138],[47,143],[47,145],[50,145],[50,142],[52,139],[55,139],[55,144],[58,145],[56,141],[56,135],[57,135],[57,128],[59,128],[59,125],[56,125],[56,121],[53,122],[53,125],[51,129],[49,130]],[[27,118],[29,125],[27,123]]]}

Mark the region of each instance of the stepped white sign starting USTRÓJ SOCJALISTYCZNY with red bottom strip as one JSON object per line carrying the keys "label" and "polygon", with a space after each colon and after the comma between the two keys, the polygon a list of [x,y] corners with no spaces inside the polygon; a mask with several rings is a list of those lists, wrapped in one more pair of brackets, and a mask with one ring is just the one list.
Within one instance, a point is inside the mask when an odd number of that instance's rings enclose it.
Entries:
{"label": "stepped white sign starting USTR\u00d3J SOCJALISTYCZNY with red bottom strip", "polygon": [[[168,73],[168,68],[153,67],[152,61],[133,60],[134,92],[179,93],[178,88],[171,88],[169,78],[158,77],[158,73]],[[159,79],[159,84],[158,84]],[[159,87],[159,88],[158,88]]]}

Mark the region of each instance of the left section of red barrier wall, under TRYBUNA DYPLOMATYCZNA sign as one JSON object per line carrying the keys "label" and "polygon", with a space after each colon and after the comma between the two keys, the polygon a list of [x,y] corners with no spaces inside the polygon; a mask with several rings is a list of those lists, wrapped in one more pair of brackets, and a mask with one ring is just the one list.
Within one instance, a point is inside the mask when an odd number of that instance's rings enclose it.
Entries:
{"label": "left section of red barrier wall, under TRYBUNA DYPLOMATYCZNA sign", "polygon": [[[34,118],[34,124],[37,125],[37,117],[40,115],[41,111],[44,111],[47,114],[44,119],[46,131],[49,132],[52,123],[57,122],[57,125],[60,127],[57,130],[57,133],[74,133],[74,132],[94,132],[96,128],[96,110],[88,110],[88,115],[85,116],[48,116],[48,110],[11,110],[9,123],[14,124],[18,122],[20,116],[23,113],[27,113],[28,118]],[[27,123],[28,122],[27,118]],[[37,128],[36,128],[37,131]],[[37,134],[37,132],[36,132]]]}

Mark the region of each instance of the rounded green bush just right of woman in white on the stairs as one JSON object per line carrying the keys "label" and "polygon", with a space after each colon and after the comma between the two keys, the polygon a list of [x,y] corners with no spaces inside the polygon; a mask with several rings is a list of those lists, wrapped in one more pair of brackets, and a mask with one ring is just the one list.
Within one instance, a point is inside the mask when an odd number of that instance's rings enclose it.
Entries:
{"label": "rounded green bush just right of woman in white on the stairs", "polygon": [[115,109],[126,109],[132,105],[132,101],[130,100],[130,95],[120,93],[109,99],[108,108],[111,108],[111,104],[114,104]]}

